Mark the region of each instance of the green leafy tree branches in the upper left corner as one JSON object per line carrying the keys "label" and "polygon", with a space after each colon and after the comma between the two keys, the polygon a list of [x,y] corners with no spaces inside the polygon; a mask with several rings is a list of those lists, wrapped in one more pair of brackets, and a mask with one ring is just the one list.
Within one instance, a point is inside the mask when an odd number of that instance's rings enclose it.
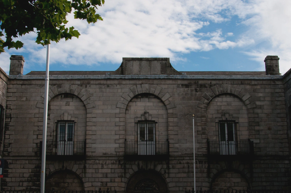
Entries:
{"label": "green leafy tree branches in the upper left corner", "polygon": [[96,10],[103,4],[104,0],[0,0],[0,53],[5,47],[23,47],[14,39],[32,31],[37,32],[35,42],[42,45],[78,38],[74,27],[65,26],[66,16],[74,9],[75,19],[95,23],[102,20]]}

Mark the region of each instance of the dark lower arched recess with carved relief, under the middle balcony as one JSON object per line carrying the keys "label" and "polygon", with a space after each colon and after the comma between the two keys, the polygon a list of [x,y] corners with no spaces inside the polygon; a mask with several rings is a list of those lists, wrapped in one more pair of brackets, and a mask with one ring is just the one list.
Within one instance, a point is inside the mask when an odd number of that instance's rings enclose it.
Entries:
{"label": "dark lower arched recess with carved relief, under the middle balcony", "polygon": [[151,192],[168,193],[168,183],[165,178],[154,170],[142,170],[131,175],[126,183],[127,193],[139,193],[146,188],[150,188]]}

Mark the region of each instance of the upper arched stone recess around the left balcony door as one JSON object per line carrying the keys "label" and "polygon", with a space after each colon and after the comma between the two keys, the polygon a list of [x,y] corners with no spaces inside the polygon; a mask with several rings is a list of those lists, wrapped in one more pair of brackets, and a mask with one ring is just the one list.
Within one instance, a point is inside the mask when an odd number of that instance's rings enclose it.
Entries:
{"label": "upper arched stone recess around the left balcony door", "polygon": [[47,139],[59,140],[57,137],[58,123],[73,125],[73,141],[85,141],[86,106],[83,101],[71,93],[62,93],[54,96],[48,104]]}

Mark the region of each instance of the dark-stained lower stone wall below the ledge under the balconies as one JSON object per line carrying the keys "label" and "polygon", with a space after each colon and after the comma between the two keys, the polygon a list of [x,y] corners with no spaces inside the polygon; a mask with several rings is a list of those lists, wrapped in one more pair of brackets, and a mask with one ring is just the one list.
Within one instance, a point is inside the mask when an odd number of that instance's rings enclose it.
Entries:
{"label": "dark-stained lower stone wall below the ledge under the balconies", "polygon": [[[40,188],[41,159],[6,158],[2,190],[36,190]],[[102,190],[125,193],[129,179],[142,171],[160,176],[169,193],[192,190],[192,156],[170,157],[169,161],[125,161],[123,157],[87,158],[80,161],[47,161],[46,187],[66,190]],[[196,159],[196,188],[203,190],[290,189],[288,159],[266,157],[249,161],[209,161]],[[143,179],[147,180],[147,179]],[[149,181],[148,181],[149,182]],[[137,183],[137,182],[136,182]],[[141,187],[142,183],[139,182]],[[55,189],[55,190],[56,190]]]}

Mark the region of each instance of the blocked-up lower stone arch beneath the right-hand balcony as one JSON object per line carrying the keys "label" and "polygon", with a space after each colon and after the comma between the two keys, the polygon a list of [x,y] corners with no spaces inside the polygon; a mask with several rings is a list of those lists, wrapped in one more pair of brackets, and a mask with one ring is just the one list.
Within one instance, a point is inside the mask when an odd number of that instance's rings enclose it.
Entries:
{"label": "blocked-up lower stone arch beneath the right-hand balcony", "polygon": [[220,191],[228,189],[232,190],[246,190],[252,188],[249,178],[237,169],[223,169],[217,172],[210,182],[210,190]]}

